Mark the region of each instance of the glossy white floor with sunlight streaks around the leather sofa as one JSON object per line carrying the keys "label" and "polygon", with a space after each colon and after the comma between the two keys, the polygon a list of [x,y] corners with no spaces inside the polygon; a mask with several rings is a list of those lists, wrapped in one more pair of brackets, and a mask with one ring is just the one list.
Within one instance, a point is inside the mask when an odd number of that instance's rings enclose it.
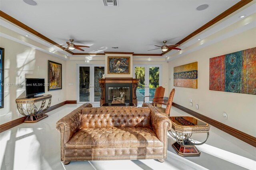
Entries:
{"label": "glossy white floor with sunlight streaks around the leather sofa", "polygon": [[[62,106],[38,123],[23,123],[0,133],[1,170],[256,170],[256,148],[215,127],[211,127],[206,144],[198,146],[199,157],[178,156],[171,146],[174,140],[169,138],[168,158],[164,163],[111,160],[64,165],[60,162],[60,133],[55,129],[55,123],[78,106],[80,104]],[[203,141],[205,137],[204,134],[193,134],[197,141]]]}

